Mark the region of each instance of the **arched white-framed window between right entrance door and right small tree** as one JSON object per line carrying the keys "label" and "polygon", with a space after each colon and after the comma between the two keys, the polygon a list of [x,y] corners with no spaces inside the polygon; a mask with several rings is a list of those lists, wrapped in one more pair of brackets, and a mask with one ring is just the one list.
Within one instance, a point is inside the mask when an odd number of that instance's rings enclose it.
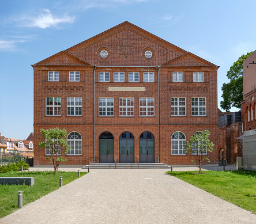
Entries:
{"label": "arched white-framed window between right entrance door and right small tree", "polygon": [[186,155],[186,136],[180,131],[172,135],[172,155]]}

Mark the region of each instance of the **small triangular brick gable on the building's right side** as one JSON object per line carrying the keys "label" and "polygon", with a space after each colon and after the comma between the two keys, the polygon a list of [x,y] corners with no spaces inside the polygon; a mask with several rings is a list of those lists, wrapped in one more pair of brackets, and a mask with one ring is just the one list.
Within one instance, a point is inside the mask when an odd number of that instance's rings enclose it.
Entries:
{"label": "small triangular brick gable on the building's right side", "polygon": [[194,55],[190,52],[186,52],[183,55],[180,55],[168,62],[161,64],[161,66],[211,66],[218,67],[216,64],[208,62],[208,60],[202,59],[197,55]]}

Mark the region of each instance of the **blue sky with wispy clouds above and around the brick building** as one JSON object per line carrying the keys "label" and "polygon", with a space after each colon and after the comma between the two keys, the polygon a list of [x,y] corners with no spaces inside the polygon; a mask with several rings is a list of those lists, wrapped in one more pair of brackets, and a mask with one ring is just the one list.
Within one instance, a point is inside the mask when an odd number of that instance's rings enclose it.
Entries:
{"label": "blue sky with wispy clouds above and around the brick building", "polygon": [[1,0],[1,135],[33,132],[31,64],[124,21],[220,66],[220,103],[229,67],[256,50],[255,9],[255,0]]}

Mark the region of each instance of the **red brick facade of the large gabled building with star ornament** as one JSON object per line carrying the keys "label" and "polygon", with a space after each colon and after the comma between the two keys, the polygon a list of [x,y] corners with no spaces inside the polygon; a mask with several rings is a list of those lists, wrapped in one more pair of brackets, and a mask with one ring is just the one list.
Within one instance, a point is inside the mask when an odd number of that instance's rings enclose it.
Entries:
{"label": "red brick facade of the large gabled building with star ornament", "polygon": [[[100,56],[101,51],[108,52],[106,58]],[[152,53],[150,58],[146,58],[146,51]],[[192,164],[193,156],[171,153],[171,138],[175,132],[182,132],[188,141],[191,135],[202,130],[210,131],[210,141],[215,146],[209,158],[212,164],[217,164],[218,66],[123,22],[32,67],[35,165],[50,165],[46,151],[36,145],[44,141],[40,129],[54,127],[82,136],[82,155],[65,155],[68,160],[65,165],[100,162],[99,138],[103,132],[114,136],[114,158],[119,162],[119,138],[126,131],[134,138],[134,162],[141,157],[141,134],[150,132],[154,138],[153,162]],[[58,71],[59,81],[48,81],[48,71]],[[69,71],[80,71],[80,81],[69,81]],[[172,81],[172,73],[177,71],[183,72],[182,82]],[[101,72],[109,73],[108,82],[99,81]],[[125,73],[125,82],[114,82],[115,72]],[[132,72],[140,74],[138,82],[129,82]],[[149,72],[154,74],[153,82],[144,82],[144,73]],[[203,82],[194,82],[193,73],[203,73]],[[46,115],[46,97],[61,97],[60,116]],[[82,97],[82,116],[67,116],[67,97]],[[134,116],[119,116],[122,97],[134,98]],[[185,116],[171,116],[172,97],[186,98]],[[205,99],[205,116],[192,116],[192,97]],[[114,116],[99,116],[99,98],[114,98]],[[140,98],[154,99],[153,116],[140,116]]]}

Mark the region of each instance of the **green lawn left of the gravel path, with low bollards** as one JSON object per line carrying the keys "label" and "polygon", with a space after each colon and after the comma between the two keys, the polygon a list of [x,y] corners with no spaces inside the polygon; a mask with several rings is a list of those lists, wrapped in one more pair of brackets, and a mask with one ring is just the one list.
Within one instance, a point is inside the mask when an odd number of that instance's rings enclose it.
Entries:
{"label": "green lawn left of the gravel path, with low bollards", "polygon": [[[86,172],[80,172],[83,176]],[[18,191],[23,191],[23,206],[59,188],[59,177],[62,176],[63,185],[78,179],[77,172],[7,172],[0,173],[0,177],[35,177],[35,184],[0,185],[0,218],[18,209]]]}

